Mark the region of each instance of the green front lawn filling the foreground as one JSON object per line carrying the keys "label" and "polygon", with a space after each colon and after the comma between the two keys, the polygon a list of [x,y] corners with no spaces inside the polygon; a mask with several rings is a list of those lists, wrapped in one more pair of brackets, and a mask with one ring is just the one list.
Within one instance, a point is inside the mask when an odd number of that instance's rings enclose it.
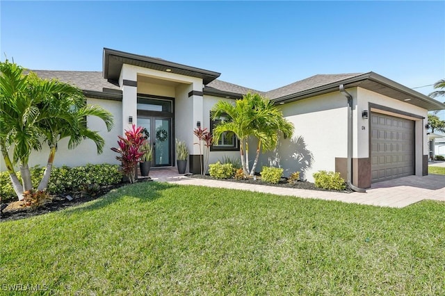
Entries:
{"label": "green front lawn filling the foreground", "polygon": [[139,183],[0,223],[0,293],[445,295],[444,217],[441,202],[378,208]]}

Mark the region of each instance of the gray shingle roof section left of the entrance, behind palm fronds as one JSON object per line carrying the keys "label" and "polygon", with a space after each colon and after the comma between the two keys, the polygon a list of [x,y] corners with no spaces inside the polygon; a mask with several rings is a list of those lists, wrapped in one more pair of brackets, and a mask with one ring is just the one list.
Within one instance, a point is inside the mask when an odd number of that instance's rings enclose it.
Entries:
{"label": "gray shingle roof section left of the entrance, behind palm fronds", "polygon": [[102,77],[101,72],[86,71],[49,71],[49,70],[31,70],[42,79],[58,79],[62,82],[76,85],[81,90],[95,90],[102,92],[104,88],[120,90],[113,83],[109,83]]}

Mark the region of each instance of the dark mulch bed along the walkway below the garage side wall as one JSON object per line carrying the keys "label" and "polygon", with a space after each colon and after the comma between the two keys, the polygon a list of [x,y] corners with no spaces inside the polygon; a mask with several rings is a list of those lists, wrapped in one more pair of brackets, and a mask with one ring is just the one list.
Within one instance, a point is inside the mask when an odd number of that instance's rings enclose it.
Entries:
{"label": "dark mulch bed along the walkway below the garage side wall", "polygon": [[264,181],[261,181],[261,177],[257,176],[257,179],[215,179],[209,175],[201,175],[201,174],[192,174],[188,177],[197,178],[197,179],[209,179],[209,180],[218,180],[218,181],[227,181],[227,182],[237,182],[237,183],[246,183],[246,184],[257,184],[257,185],[266,185],[266,186],[274,186],[274,187],[284,187],[284,188],[295,188],[295,189],[307,189],[307,190],[318,190],[318,191],[332,191],[332,192],[344,192],[350,193],[352,190],[349,188],[346,190],[325,190],[321,188],[316,188],[314,183],[307,181],[298,181],[295,184],[288,183],[286,178],[280,179],[280,182],[277,184],[271,184]]}

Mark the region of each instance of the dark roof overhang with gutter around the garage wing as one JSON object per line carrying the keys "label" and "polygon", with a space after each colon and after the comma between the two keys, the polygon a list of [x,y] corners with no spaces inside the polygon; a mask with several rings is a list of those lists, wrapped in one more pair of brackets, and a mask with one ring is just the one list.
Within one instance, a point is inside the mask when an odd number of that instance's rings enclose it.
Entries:
{"label": "dark roof overhang with gutter around the garage wing", "polygon": [[308,97],[339,91],[339,85],[341,84],[344,85],[344,88],[360,87],[366,90],[371,90],[429,111],[445,109],[445,104],[374,72],[360,74],[341,81],[321,85],[317,88],[303,90],[301,92],[296,92],[295,94],[289,94],[284,97],[273,99],[272,101],[274,101],[275,104],[283,104],[291,101],[298,101],[300,99],[307,99]]}

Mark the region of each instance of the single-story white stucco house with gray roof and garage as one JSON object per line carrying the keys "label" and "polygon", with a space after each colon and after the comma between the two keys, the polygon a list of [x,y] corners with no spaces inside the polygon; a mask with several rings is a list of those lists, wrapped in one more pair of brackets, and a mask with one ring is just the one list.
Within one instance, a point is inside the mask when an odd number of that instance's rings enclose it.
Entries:
{"label": "single-story white stucco house with gray roof and garage", "polygon": [[[369,188],[373,182],[428,174],[427,113],[445,109],[445,104],[373,72],[316,75],[261,92],[220,81],[218,72],[113,49],[104,49],[102,72],[35,73],[79,86],[89,104],[115,116],[110,133],[99,120],[88,119],[88,126],[106,140],[104,154],[98,156],[95,145],[85,141],[74,151],[59,148],[56,166],[117,163],[110,148],[136,124],[149,131],[154,167],[175,166],[178,138],[191,152],[190,171],[199,172],[193,129],[211,129],[210,110],[217,101],[259,92],[277,104],[296,131],[293,138],[281,139],[276,151],[261,156],[258,170],[276,165],[286,175],[300,171],[309,181],[318,170],[337,171],[355,186]],[[38,163],[31,165],[45,164],[47,151],[38,153]],[[238,141],[225,135],[211,147],[210,163],[238,155]]]}

